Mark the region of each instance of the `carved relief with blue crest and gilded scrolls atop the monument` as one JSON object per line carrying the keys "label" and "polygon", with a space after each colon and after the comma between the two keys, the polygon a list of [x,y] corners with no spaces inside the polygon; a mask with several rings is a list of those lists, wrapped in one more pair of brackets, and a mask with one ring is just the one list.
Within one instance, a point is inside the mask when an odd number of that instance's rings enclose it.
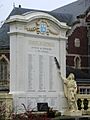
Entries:
{"label": "carved relief with blue crest and gilded scrolls atop the monument", "polygon": [[25,30],[31,33],[41,34],[41,35],[59,35],[60,29],[55,26],[47,19],[36,19],[33,23],[28,23],[25,26]]}

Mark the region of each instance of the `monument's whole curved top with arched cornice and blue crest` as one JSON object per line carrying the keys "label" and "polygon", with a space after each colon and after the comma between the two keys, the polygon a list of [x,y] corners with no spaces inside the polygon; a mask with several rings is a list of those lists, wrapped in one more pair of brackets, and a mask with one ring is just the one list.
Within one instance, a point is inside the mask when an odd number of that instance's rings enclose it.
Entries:
{"label": "monument's whole curved top with arched cornice and blue crest", "polygon": [[[8,22],[17,22],[17,31],[52,37],[66,37],[65,33],[69,28],[66,23],[60,22],[44,12],[30,12],[11,16]],[[21,22],[21,24],[18,24],[18,22]]]}

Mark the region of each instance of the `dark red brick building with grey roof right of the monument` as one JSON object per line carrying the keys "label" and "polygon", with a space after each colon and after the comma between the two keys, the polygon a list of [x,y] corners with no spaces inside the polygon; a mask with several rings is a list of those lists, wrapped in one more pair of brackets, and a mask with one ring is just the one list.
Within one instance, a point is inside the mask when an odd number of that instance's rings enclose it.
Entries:
{"label": "dark red brick building with grey roof right of the monument", "polygon": [[90,0],[77,0],[54,12],[71,15],[67,23],[71,26],[67,32],[67,74],[74,72],[80,93],[90,93]]}

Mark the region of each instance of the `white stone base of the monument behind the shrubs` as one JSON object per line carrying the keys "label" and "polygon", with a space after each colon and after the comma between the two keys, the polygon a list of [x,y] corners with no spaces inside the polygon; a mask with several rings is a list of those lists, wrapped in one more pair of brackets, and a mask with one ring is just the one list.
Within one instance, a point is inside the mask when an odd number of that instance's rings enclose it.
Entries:
{"label": "white stone base of the monument behind the shrubs", "polygon": [[[46,104],[54,110],[65,111],[65,98],[58,92],[12,92],[14,112],[25,112],[23,104],[28,110],[42,111],[47,109]],[[40,105],[40,106],[38,106]]]}

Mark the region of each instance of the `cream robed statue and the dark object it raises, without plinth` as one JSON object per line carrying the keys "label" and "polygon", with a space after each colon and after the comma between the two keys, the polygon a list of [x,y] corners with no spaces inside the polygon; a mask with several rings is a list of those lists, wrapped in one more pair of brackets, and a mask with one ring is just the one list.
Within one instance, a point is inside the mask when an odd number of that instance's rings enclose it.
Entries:
{"label": "cream robed statue and the dark object it raises, without plinth", "polygon": [[59,77],[64,81],[64,93],[68,102],[68,109],[66,111],[67,113],[76,113],[76,111],[78,111],[78,107],[76,101],[77,84],[75,81],[75,76],[73,73],[70,73],[67,78],[62,77],[57,58],[55,57],[54,60],[57,66]]}

